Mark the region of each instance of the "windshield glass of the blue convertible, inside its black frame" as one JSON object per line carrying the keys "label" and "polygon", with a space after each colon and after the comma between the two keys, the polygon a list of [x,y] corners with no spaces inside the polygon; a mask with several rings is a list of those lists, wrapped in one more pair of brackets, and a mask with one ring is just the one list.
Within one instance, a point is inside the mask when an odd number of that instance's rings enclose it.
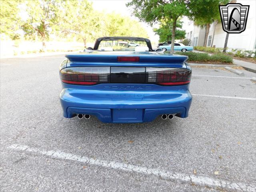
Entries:
{"label": "windshield glass of the blue convertible, inside its black frame", "polygon": [[148,51],[145,41],[136,41],[131,39],[120,40],[102,40],[99,44],[100,51]]}

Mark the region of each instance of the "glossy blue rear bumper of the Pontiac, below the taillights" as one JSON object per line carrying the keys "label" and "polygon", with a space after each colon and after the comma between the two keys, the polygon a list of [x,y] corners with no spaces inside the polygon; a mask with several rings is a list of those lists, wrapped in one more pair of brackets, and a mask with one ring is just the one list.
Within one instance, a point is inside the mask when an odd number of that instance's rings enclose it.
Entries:
{"label": "glossy blue rear bumper of the Pontiac, below the taillights", "polygon": [[[148,86],[150,87],[150,86]],[[188,116],[192,96],[177,90],[84,90],[64,88],[60,94],[63,115],[90,114],[102,122],[150,122],[162,114]]]}

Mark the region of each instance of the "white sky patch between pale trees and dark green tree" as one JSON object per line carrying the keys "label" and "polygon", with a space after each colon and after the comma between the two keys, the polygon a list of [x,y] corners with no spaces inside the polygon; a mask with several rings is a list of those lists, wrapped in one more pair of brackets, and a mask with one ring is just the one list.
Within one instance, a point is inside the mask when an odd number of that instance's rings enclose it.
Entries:
{"label": "white sky patch between pale trees and dark green tree", "polygon": [[[132,16],[131,8],[128,8],[125,5],[127,2],[129,2],[129,0],[88,0],[88,1],[92,2],[92,6],[95,10],[104,11],[106,13],[110,13],[114,11],[123,16],[131,17],[132,19],[139,21],[138,18]],[[140,23],[148,32],[149,39],[152,42],[158,42],[159,36],[155,35],[155,33],[153,32],[153,28],[144,22],[140,22]]]}

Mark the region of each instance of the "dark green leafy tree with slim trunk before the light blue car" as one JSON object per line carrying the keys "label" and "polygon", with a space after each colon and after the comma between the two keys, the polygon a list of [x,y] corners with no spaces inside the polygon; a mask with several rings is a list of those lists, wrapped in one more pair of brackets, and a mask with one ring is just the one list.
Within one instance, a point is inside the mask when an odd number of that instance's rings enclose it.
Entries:
{"label": "dark green leafy tree with slim trunk before the light blue car", "polygon": [[190,14],[189,2],[189,0],[132,0],[126,6],[132,7],[136,17],[151,25],[164,19],[172,21],[171,53],[173,54],[176,22],[180,16]]}

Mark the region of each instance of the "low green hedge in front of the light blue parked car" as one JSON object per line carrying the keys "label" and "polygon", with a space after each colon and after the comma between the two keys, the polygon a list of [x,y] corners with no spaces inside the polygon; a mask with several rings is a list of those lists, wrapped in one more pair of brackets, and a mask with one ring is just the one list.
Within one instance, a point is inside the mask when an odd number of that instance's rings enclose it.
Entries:
{"label": "low green hedge in front of the light blue parked car", "polygon": [[188,62],[223,62],[232,63],[233,59],[222,53],[209,55],[207,53],[195,53],[195,52],[179,52],[176,54],[188,56]]}

